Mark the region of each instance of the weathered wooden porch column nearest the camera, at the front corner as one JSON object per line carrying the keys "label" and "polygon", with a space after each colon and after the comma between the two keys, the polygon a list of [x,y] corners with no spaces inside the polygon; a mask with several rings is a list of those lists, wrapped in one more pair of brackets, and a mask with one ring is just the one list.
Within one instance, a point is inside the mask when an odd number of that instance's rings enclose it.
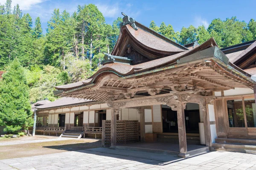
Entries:
{"label": "weathered wooden porch column nearest the camera, at the front corner", "polygon": [[186,125],[185,125],[185,114],[183,103],[177,103],[177,121],[178,121],[178,133],[179,133],[179,145],[180,153],[178,156],[187,157],[187,143],[186,143]]}

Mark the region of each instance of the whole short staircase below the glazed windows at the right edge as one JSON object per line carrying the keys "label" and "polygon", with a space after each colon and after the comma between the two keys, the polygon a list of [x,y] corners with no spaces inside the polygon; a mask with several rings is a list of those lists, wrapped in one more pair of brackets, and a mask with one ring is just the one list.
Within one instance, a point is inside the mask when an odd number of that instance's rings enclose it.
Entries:
{"label": "whole short staircase below the glazed windows at the right edge", "polygon": [[217,138],[212,146],[215,150],[256,153],[256,139]]}

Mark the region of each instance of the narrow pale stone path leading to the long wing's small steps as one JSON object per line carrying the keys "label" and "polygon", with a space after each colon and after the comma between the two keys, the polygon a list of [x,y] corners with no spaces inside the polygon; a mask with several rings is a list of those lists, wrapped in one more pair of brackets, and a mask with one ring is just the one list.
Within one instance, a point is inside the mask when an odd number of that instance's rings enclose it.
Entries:
{"label": "narrow pale stone path leading to the long wing's small steps", "polygon": [[52,142],[52,141],[63,141],[70,140],[74,138],[53,138],[53,139],[38,139],[38,140],[28,140],[28,141],[12,141],[12,142],[0,142],[0,146],[13,145],[13,144],[27,144],[27,143],[38,143],[38,142]]}

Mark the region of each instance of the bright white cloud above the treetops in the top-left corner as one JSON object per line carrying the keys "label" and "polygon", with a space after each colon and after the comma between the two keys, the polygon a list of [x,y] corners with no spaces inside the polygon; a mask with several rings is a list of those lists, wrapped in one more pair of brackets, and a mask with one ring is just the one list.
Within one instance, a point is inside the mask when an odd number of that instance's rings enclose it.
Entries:
{"label": "bright white cloud above the treetops in the top-left corner", "polygon": [[[32,6],[42,3],[46,0],[12,0],[12,8],[19,4],[21,10],[29,10]],[[6,0],[0,0],[1,4],[5,4]]]}

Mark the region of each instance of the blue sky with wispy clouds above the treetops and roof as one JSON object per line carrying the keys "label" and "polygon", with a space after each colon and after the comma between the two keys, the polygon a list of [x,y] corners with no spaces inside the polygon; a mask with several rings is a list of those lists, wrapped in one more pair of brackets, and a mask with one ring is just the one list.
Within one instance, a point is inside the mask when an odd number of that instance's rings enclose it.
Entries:
{"label": "blue sky with wispy clouds above the treetops and roof", "polygon": [[145,26],[154,20],[158,26],[161,22],[172,24],[175,31],[189,25],[207,27],[214,18],[225,20],[236,16],[245,22],[256,19],[255,0],[12,0],[12,6],[17,3],[23,14],[29,13],[33,21],[38,16],[41,18],[44,32],[55,8],[72,14],[79,4],[89,3],[96,4],[108,24],[124,12]]}

